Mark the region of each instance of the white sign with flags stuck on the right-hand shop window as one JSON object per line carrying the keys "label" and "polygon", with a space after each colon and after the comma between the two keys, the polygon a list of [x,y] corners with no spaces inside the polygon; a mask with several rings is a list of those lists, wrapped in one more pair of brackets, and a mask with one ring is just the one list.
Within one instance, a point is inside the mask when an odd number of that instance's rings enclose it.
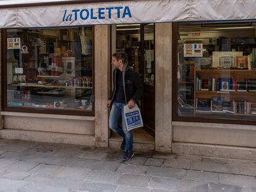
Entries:
{"label": "white sign with flags stuck on the right-hand shop window", "polygon": [[203,44],[184,44],[184,57],[203,57]]}

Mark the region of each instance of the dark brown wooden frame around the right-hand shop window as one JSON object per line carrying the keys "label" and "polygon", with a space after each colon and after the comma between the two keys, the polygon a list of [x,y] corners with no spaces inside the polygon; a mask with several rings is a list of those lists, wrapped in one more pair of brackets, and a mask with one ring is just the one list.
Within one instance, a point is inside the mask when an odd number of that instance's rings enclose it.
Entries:
{"label": "dark brown wooden frame around the right-hand shop window", "polygon": [[173,70],[173,84],[172,84],[172,102],[173,102],[173,111],[172,111],[172,118],[173,121],[180,121],[180,122],[203,122],[203,123],[225,123],[225,124],[237,124],[237,125],[256,125],[256,120],[245,120],[245,119],[211,119],[205,117],[190,117],[190,116],[179,116],[177,112],[177,93],[178,93],[178,86],[177,86],[177,35],[178,35],[178,23],[172,23],[173,33],[172,33],[172,70]]}

